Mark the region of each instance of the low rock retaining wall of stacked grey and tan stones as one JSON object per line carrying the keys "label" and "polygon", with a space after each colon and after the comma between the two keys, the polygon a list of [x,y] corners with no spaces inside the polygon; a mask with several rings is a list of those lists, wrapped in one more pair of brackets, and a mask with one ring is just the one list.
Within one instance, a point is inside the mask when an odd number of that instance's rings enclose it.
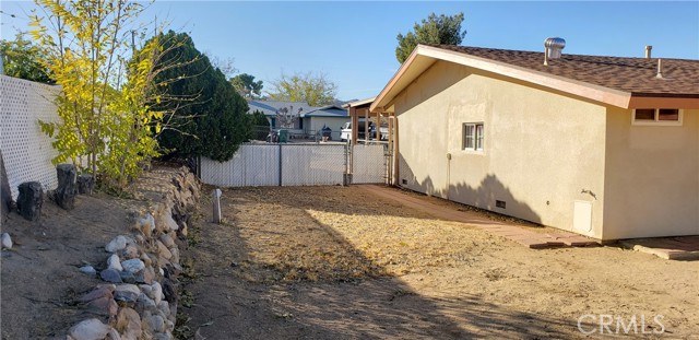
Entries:
{"label": "low rock retaining wall of stacked grey and tan stones", "polygon": [[[191,211],[200,197],[199,179],[186,167],[174,172],[171,188],[138,216],[131,234],[118,235],[106,246],[105,281],[81,297],[84,308],[100,318],[74,325],[68,339],[174,339],[181,271],[179,246]],[[80,269],[97,274],[86,266]]]}

